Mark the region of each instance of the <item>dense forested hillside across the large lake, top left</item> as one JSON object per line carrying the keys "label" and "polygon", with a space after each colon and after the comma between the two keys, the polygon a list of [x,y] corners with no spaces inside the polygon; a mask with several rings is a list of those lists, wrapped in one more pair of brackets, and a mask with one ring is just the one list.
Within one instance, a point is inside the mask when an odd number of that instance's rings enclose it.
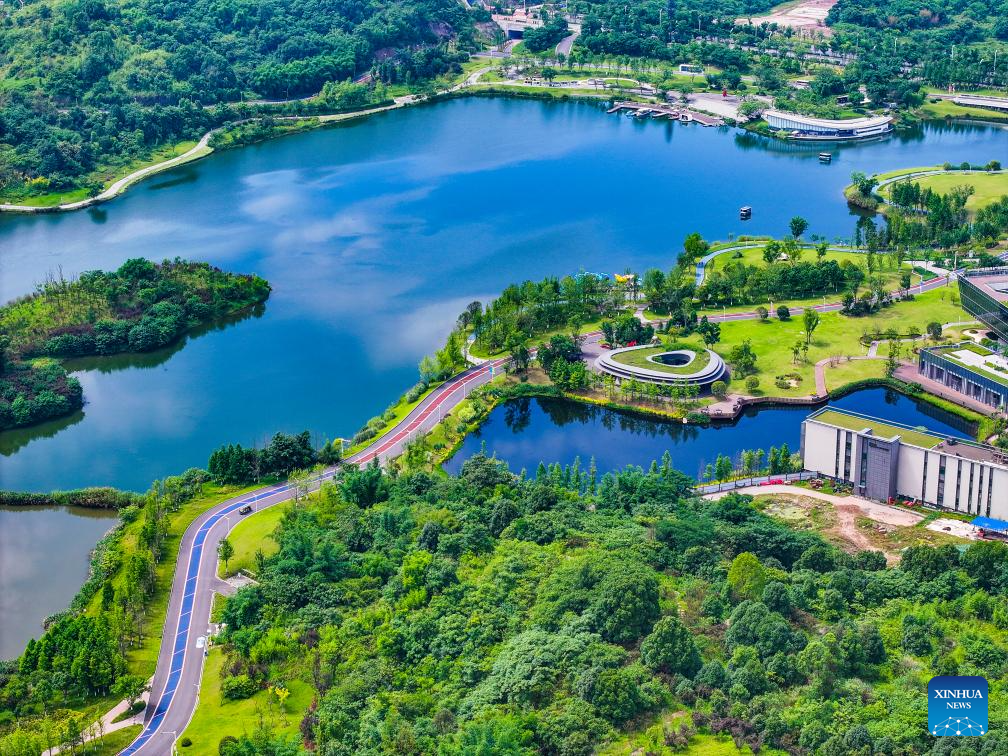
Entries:
{"label": "dense forested hillside across the large lake, top left", "polygon": [[[0,6],[0,196],[95,191],[109,165],[317,95],[381,62],[386,82],[459,70],[454,0],[34,0]],[[467,55],[462,55],[466,59]]]}

